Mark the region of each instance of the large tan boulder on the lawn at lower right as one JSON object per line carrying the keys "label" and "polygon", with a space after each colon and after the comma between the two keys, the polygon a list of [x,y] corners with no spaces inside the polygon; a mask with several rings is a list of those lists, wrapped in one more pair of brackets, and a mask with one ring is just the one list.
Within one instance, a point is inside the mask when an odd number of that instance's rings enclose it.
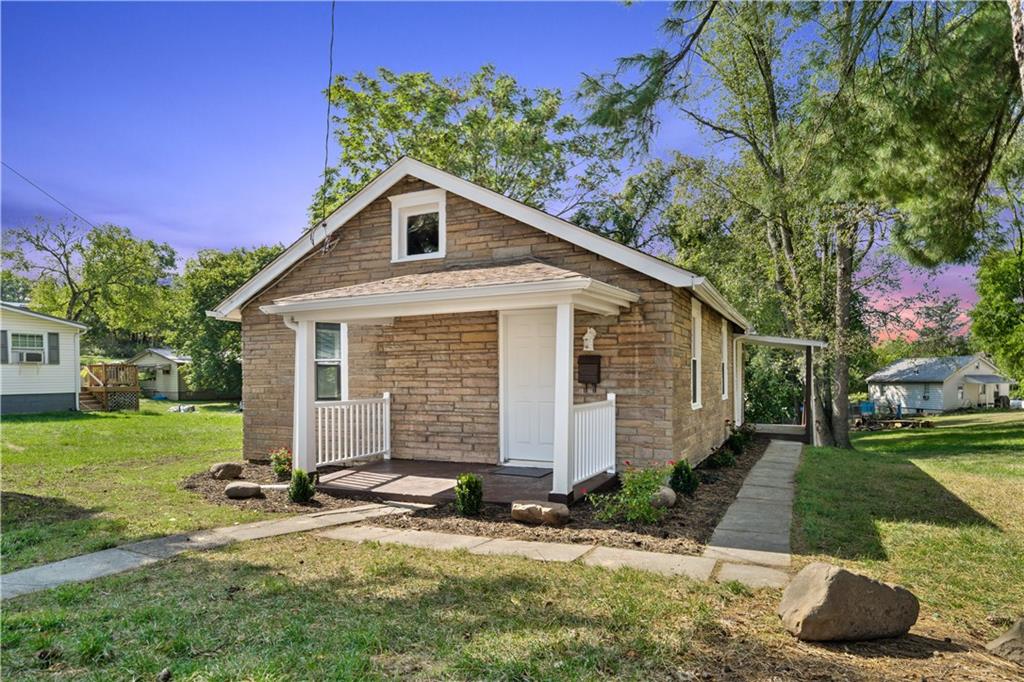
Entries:
{"label": "large tan boulder on the lawn at lower right", "polygon": [[905,635],[920,608],[904,588],[818,562],[793,579],[778,614],[798,639],[852,641]]}

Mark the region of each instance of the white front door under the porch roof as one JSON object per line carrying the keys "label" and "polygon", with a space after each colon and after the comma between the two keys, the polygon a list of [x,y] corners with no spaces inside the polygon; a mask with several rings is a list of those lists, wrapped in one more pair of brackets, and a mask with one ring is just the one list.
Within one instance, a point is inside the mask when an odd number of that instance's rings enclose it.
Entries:
{"label": "white front door under the porch roof", "polygon": [[505,459],[550,464],[555,430],[555,311],[502,317]]}

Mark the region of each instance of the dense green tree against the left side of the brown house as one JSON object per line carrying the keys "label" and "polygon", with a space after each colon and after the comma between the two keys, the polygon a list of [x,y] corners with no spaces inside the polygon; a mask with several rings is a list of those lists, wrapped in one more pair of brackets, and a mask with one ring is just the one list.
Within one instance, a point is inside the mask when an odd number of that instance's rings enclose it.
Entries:
{"label": "dense green tree against the left side of the brown house", "polygon": [[261,246],[223,252],[206,249],[185,262],[175,283],[174,326],[167,340],[191,357],[186,382],[191,388],[227,394],[242,391],[242,330],[237,323],[206,314],[245,284],[284,247]]}

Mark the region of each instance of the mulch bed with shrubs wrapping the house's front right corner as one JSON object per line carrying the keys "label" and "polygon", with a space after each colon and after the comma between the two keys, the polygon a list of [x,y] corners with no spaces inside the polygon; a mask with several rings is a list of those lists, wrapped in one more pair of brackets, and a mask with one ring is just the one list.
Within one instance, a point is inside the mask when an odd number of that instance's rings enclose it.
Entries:
{"label": "mulch bed with shrubs wrapping the house's front right corner", "polygon": [[746,472],[761,459],[767,446],[767,438],[758,438],[736,458],[734,466],[711,470],[698,467],[697,471],[705,480],[694,497],[680,496],[668,516],[652,525],[605,523],[595,517],[594,507],[586,500],[571,507],[571,519],[561,528],[513,521],[509,505],[484,505],[479,517],[466,518],[457,514],[451,503],[409,515],[374,519],[374,524],[492,538],[699,554],[725,515],[725,510],[736,499]]}

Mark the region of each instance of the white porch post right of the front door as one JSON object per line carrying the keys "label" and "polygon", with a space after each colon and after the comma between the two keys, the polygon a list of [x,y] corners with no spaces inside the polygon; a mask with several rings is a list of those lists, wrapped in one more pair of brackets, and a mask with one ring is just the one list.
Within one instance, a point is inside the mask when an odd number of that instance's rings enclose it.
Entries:
{"label": "white porch post right of the front door", "polygon": [[551,497],[572,499],[572,334],[571,303],[555,308],[555,429]]}

